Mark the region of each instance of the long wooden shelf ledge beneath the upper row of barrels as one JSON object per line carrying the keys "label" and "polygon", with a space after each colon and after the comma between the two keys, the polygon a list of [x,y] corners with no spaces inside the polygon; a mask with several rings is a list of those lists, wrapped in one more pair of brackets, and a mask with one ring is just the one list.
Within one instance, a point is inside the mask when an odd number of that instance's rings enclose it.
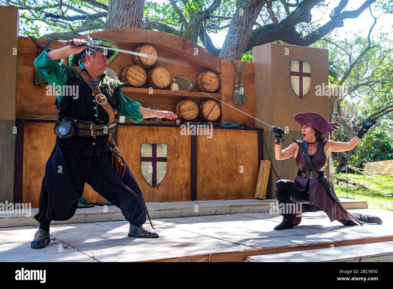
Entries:
{"label": "long wooden shelf ledge beneath the upper row of barrels", "polygon": [[203,92],[196,91],[180,91],[180,90],[167,90],[167,89],[153,89],[153,93],[149,94],[149,88],[139,88],[139,87],[123,87],[121,88],[123,93],[136,93],[136,94],[146,94],[147,96],[168,96],[174,98],[213,98],[221,99],[220,93],[207,92],[209,96]]}

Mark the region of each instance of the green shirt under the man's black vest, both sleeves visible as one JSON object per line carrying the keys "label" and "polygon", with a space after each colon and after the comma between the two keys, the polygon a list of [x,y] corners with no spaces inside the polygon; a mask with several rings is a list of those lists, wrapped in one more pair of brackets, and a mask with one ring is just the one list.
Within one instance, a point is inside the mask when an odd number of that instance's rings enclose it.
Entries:
{"label": "green shirt under the man's black vest, both sleeves visible", "polygon": [[[52,60],[48,57],[48,52],[53,49],[45,49],[38,57],[34,60],[34,66],[39,72],[39,74],[44,77],[44,79],[53,87],[53,84],[55,86],[57,85],[66,85],[68,75],[66,74],[64,67],[62,66],[62,63],[64,61],[64,58],[60,60]],[[83,64],[80,64],[79,67],[81,69],[86,69],[86,67]],[[139,111],[139,107],[141,104],[137,101],[133,101],[132,99],[129,99],[125,97],[121,91],[121,86],[124,84],[123,82],[120,81],[115,81],[111,79],[110,77],[106,76],[104,73],[101,75],[99,78],[97,85],[98,87],[101,87],[102,85],[110,83],[118,87],[120,90],[120,97],[121,97],[121,109],[119,110],[119,113],[129,120],[132,120],[136,123],[140,123],[143,118],[142,114]],[[53,87],[55,88],[55,87]],[[55,88],[56,89],[56,88]],[[61,93],[57,91],[57,101],[60,103],[62,99]],[[98,104],[95,104],[96,107]],[[97,120],[98,120],[98,109],[97,109]]]}

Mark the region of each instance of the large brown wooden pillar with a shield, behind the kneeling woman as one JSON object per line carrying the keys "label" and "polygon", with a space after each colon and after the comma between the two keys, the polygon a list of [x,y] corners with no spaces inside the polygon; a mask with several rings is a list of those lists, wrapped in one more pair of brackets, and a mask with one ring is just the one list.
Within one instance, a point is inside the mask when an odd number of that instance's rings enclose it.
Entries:
{"label": "large brown wooden pillar with a shield, behind the kneeling woman", "polygon": [[[310,88],[303,97],[292,89],[290,80],[291,60],[310,62]],[[329,119],[329,97],[319,91],[325,91],[329,85],[328,50],[320,48],[268,43],[253,48],[255,62],[255,117],[270,125],[283,129],[288,127],[283,149],[294,139],[303,140],[300,125],[293,120],[299,112],[318,112]],[[318,90],[318,86],[322,88]],[[275,183],[279,179],[293,180],[297,173],[295,158],[275,160],[274,134],[268,126],[259,121],[255,123],[264,128],[264,159],[272,161],[266,197],[275,199]],[[329,138],[328,134],[324,135]],[[270,158],[269,158],[270,156]],[[278,177],[275,175],[277,173]],[[325,168],[329,177],[329,166]]]}

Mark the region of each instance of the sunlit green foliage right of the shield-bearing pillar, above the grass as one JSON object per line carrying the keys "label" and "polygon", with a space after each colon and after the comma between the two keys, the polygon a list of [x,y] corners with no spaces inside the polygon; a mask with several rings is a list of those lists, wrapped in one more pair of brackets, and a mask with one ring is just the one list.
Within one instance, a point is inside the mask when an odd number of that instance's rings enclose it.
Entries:
{"label": "sunlit green foliage right of the shield-bearing pillar, above the grass", "polygon": [[[336,87],[350,63],[365,50],[368,40],[357,35],[354,41],[340,39],[337,35],[326,38],[329,41],[319,40],[312,46],[329,50],[329,85]],[[393,44],[387,33],[381,33],[378,39],[371,41],[371,46],[375,47],[364,54],[343,82],[349,94],[340,96],[339,110],[335,110],[332,121],[344,127],[331,134],[332,140],[349,142],[357,132],[352,129],[354,125],[393,104]],[[351,55],[351,62],[348,55]],[[365,160],[393,158],[393,112],[387,111],[359,142],[354,150],[356,154],[351,151],[333,153],[336,161],[340,159],[336,165],[349,162],[362,168]]]}

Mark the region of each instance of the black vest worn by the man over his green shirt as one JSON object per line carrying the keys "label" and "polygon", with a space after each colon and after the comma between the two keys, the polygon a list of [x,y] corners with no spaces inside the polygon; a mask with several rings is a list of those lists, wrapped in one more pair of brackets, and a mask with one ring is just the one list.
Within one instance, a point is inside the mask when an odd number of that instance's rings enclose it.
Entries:
{"label": "black vest worn by the man over his green shirt", "polygon": [[[90,86],[74,68],[64,64],[62,64],[62,66],[68,75],[65,91],[69,93],[62,96],[60,104],[57,99],[55,101],[57,109],[60,108],[60,114],[75,120],[108,123],[109,116],[101,105],[96,106],[95,96],[92,95]],[[99,86],[101,93],[106,96],[107,101],[116,111],[119,111],[121,108],[120,87],[121,85],[118,82],[108,77],[105,77]],[[76,91],[77,95],[72,93]],[[94,109],[95,107],[97,108]],[[94,138],[74,135],[71,138],[57,137],[56,143],[62,147],[79,151],[87,156],[101,156],[109,149],[108,138],[108,135]]]}

